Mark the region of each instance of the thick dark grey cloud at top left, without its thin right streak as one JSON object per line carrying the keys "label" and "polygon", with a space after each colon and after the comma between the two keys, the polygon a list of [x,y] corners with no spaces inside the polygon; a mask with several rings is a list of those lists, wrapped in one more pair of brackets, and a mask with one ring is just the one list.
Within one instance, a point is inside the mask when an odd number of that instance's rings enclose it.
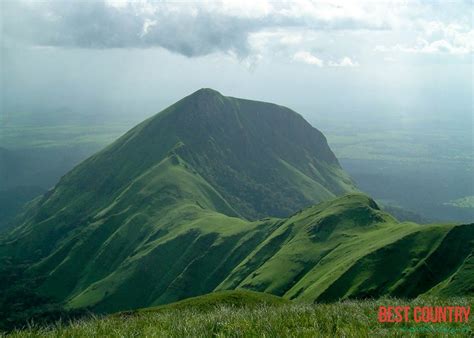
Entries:
{"label": "thick dark grey cloud at top left, without its thin right streak", "polygon": [[104,2],[5,4],[7,37],[39,46],[79,48],[163,47],[186,56],[214,51],[244,55],[249,20],[218,17],[204,11],[143,13],[129,4]]}

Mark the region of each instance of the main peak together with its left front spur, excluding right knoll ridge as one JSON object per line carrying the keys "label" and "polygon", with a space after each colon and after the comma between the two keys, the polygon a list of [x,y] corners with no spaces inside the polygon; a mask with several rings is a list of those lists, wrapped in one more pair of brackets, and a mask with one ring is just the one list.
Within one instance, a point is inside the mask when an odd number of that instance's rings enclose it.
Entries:
{"label": "main peak together with its left front spur, excluding right knoll ridge", "polygon": [[297,113],[203,89],[62,177],[0,257],[67,307],[162,304],[214,290],[280,222],[247,219],[353,189]]}

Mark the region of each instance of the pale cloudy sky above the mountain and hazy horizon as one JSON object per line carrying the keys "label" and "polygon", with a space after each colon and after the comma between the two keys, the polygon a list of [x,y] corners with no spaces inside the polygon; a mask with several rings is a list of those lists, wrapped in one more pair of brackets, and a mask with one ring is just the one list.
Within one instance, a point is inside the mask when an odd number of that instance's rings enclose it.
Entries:
{"label": "pale cloudy sky above the mountain and hazy horizon", "polygon": [[472,130],[471,0],[0,6],[1,123],[66,111],[139,120],[210,87],[313,124],[449,120]]}

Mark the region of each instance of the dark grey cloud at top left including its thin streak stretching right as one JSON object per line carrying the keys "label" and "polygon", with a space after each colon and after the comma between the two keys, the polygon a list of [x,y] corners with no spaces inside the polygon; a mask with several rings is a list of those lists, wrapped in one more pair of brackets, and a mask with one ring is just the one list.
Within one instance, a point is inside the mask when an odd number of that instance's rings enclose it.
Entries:
{"label": "dark grey cloud at top left including its thin streak stretching right", "polygon": [[245,57],[249,34],[267,28],[386,28],[350,17],[326,20],[278,11],[240,15],[199,3],[129,2],[117,7],[104,1],[6,1],[3,7],[9,41],[96,49],[163,47],[189,57],[216,51]]}

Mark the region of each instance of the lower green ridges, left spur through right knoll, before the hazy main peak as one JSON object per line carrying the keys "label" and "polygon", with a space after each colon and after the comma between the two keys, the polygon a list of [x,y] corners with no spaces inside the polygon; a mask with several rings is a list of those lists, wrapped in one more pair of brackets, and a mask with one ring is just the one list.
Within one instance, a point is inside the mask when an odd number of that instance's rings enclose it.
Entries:
{"label": "lower green ridges, left spur through right knoll, before the hazy main peak", "polygon": [[[288,219],[248,222],[213,210],[235,214],[171,154],[132,181],[87,227],[61,239],[29,273],[46,274],[38,289],[43,296],[99,312],[235,288],[324,301],[414,297],[439,283],[443,287],[433,291],[438,295],[473,292],[472,225],[398,223],[362,194]],[[32,230],[45,235],[42,227]],[[438,264],[447,259],[449,264]],[[437,271],[435,279],[431,271]],[[459,276],[464,286],[453,289]]]}

